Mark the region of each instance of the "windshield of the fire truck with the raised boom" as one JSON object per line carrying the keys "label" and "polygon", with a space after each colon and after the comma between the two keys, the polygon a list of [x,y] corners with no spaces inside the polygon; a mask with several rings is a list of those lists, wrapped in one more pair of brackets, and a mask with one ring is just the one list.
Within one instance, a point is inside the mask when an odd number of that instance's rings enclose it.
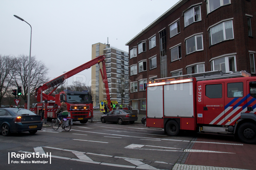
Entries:
{"label": "windshield of the fire truck with the raised boom", "polygon": [[86,104],[91,103],[90,96],[88,94],[72,94],[68,93],[66,100],[68,103]]}

